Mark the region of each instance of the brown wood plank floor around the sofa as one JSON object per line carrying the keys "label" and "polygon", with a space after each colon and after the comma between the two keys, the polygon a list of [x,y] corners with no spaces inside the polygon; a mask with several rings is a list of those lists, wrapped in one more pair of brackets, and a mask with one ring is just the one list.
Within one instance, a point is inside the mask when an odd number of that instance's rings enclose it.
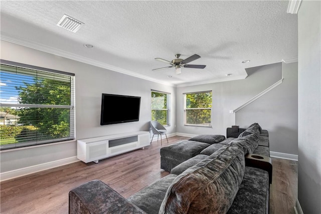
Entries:
{"label": "brown wood plank floor around the sofa", "polygon": [[[187,137],[169,138],[175,143]],[[167,146],[164,143],[163,146]],[[128,197],[164,177],[160,168],[160,141],[145,149],[104,159],[96,163],[81,161],[19,178],[1,185],[1,209],[5,213],[68,213],[70,189],[92,179],[100,179],[122,196]],[[294,213],[297,197],[296,161],[273,158],[270,187],[270,213]]]}

